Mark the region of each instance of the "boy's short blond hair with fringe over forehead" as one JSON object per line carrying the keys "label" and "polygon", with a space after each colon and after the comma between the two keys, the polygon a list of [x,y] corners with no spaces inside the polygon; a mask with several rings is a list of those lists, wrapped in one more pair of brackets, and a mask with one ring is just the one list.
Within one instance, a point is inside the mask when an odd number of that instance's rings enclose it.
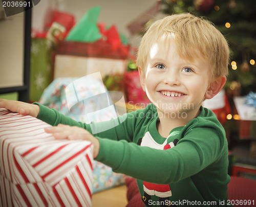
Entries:
{"label": "boy's short blond hair with fringe over forehead", "polygon": [[225,37],[210,21],[189,13],[166,16],[151,25],[141,40],[137,66],[144,71],[153,44],[163,39],[168,43],[174,37],[182,58],[193,61],[195,55],[200,55],[209,62],[212,78],[228,75],[229,48]]}

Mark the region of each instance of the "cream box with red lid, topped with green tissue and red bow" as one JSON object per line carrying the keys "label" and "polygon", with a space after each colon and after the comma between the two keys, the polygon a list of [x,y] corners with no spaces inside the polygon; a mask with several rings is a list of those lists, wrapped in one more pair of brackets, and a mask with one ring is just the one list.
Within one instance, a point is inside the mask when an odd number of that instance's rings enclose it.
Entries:
{"label": "cream box with red lid, topped with green tissue and red bow", "polygon": [[98,23],[100,7],[88,10],[59,41],[54,63],[54,79],[83,77],[100,72],[102,78],[123,74],[130,55],[130,46],[115,26]]}

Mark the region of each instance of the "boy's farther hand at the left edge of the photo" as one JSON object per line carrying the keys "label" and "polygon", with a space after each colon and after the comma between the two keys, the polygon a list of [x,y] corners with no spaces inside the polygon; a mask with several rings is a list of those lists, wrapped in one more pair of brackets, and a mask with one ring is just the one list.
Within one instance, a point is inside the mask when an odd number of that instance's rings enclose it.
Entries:
{"label": "boy's farther hand at the left edge of the photo", "polygon": [[6,99],[0,99],[0,108],[6,108],[12,112],[20,113],[23,116],[30,115],[31,117],[37,117],[40,107],[38,105],[29,104],[21,101],[10,101]]}

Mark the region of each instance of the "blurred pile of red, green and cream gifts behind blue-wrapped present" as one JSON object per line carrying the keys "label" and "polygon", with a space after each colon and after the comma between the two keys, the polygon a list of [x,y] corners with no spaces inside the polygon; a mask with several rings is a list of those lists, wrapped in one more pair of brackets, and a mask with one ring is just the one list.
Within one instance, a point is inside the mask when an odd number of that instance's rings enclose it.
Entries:
{"label": "blurred pile of red, green and cream gifts behind blue-wrapped present", "polygon": [[30,101],[38,101],[55,79],[100,72],[108,90],[121,91],[126,102],[149,103],[139,82],[134,48],[116,27],[98,23],[100,7],[75,22],[73,15],[54,11],[44,32],[32,31]]}

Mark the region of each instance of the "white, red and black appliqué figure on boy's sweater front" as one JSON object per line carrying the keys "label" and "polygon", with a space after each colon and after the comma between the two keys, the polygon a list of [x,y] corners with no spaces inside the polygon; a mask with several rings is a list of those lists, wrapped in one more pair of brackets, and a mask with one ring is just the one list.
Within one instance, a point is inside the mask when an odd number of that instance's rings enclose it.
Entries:
{"label": "white, red and black appliqu\u00e9 figure on boy's sweater front", "polygon": [[[140,146],[146,146],[154,149],[166,150],[175,147],[179,141],[178,139],[175,139],[174,142],[170,142],[167,144],[168,137],[164,141],[164,143],[160,145],[153,139],[150,132],[147,131],[143,138],[139,139],[137,144]],[[162,185],[143,181],[143,190],[144,195],[141,198],[147,206],[151,206],[149,203],[149,201],[151,200],[151,196],[159,197],[160,203],[165,203],[165,201],[169,200],[169,197],[172,196],[172,191],[170,190],[169,185]]]}

